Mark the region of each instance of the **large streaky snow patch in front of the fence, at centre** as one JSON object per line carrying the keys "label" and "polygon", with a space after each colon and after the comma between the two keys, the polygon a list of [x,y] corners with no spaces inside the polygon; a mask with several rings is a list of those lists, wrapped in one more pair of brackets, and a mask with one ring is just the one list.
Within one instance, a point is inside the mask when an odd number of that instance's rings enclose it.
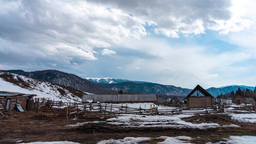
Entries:
{"label": "large streaky snow patch in front of the fence, at centre", "polygon": [[107,119],[108,124],[120,125],[124,127],[170,127],[170,128],[217,128],[216,123],[194,124],[182,121],[181,118],[192,116],[191,114],[179,115],[137,115],[120,114],[119,116]]}

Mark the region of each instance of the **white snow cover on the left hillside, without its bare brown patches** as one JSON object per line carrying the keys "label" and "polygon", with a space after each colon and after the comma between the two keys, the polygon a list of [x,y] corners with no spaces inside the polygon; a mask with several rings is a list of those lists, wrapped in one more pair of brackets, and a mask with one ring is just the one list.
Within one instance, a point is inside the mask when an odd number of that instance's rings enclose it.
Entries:
{"label": "white snow cover on the left hillside, without its bare brown patches", "polygon": [[[63,87],[55,84],[51,84],[48,82],[43,82],[40,80],[35,80],[32,78],[28,78],[26,76],[21,76],[17,74],[12,74],[13,78],[17,80],[16,82],[20,82],[18,79],[23,80],[26,82],[26,84],[29,85],[29,87],[21,87],[20,85],[15,85],[10,82],[6,82],[2,76],[6,74],[5,72],[0,72],[0,91],[10,91],[10,92],[19,92],[19,93],[25,93],[25,94],[36,94],[35,98],[50,98],[51,100],[59,100],[59,101],[81,101],[81,98],[78,96],[70,93],[67,89],[64,89]],[[11,74],[11,73],[7,73]],[[62,95],[58,89],[62,89],[65,91],[65,94]]]}

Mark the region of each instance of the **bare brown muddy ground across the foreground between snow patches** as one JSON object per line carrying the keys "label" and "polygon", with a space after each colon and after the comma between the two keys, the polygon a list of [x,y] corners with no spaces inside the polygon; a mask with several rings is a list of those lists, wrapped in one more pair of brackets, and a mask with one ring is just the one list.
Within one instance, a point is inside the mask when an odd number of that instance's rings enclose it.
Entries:
{"label": "bare brown muddy ground across the foreground between snow patches", "polygon": [[[160,136],[189,136],[192,143],[219,142],[222,138],[229,136],[256,136],[256,124],[233,123],[227,115],[208,114],[195,115],[183,120],[192,123],[214,122],[221,125],[236,124],[239,128],[215,128],[215,129],[174,129],[174,128],[124,128],[114,125],[86,124],[79,127],[64,127],[67,124],[75,124],[86,121],[99,120],[99,113],[93,113],[77,120],[66,119],[66,109],[40,109],[38,113],[25,111],[23,113],[12,111],[8,118],[0,118],[0,143],[13,144],[16,141],[37,142],[37,141],[72,141],[86,144],[94,144],[101,140],[123,139],[125,137],[151,137]],[[199,119],[199,120],[198,120]],[[197,139],[201,137],[201,139]],[[159,140],[152,140],[147,143],[157,143]]]}

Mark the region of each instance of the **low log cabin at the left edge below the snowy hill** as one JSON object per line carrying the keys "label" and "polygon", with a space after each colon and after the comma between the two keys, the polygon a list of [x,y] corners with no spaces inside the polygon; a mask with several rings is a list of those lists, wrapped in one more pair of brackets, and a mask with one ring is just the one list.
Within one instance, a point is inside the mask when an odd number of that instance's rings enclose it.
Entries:
{"label": "low log cabin at the left edge below the snowy hill", "polygon": [[16,104],[19,104],[23,110],[32,110],[33,96],[36,96],[36,94],[0,91],[0,110],[15,110]]}

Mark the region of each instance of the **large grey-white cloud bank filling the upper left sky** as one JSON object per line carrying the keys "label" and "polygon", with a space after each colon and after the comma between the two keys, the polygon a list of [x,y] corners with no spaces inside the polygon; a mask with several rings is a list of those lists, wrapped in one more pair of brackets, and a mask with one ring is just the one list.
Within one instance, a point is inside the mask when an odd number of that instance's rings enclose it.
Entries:
{"label": "large grey-white cloud bank filling the upper left sky", "polygon": [[109,48],[123,38],[140,39],[147,34],[144,20],[82,0],[0,1],[0,19],[0,55],[6,56],[1,62],[16,64],[71,66],[74,60],[77,64],[96,60],[97,47]]}

